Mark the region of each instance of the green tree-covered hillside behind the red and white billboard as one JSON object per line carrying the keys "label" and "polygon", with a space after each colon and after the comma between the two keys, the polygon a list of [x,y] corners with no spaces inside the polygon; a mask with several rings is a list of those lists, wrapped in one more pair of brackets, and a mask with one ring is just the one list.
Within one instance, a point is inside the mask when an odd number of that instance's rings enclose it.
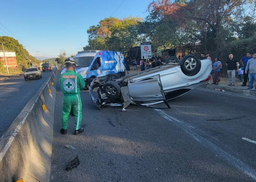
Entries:
{"label": "green tree-covered hillside behind the red and white billboard", "polygon": [[[16,53],[17,63],[18,65],[22,64],[23,68],[31,66],[35,60],[39,65],[39,60],[29,55],[28,51],[23,48],[23,45],[18,40],[8,36],[0,36],[0,42],[3,43],[5,52]],[[0,51],[2,51],[2,46],[0,46]]]}

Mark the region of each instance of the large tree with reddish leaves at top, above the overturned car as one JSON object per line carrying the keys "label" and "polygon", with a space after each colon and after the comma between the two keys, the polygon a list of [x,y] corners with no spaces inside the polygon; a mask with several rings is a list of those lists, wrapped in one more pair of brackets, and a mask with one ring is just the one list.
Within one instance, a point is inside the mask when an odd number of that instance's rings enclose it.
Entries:
{"label": "large tree with reddish leaves at top, above the overturned car", "polygon": [[[235,27],[232,26],[236,10],[246,3],[247,0],[158,0],[148,6],[151,13],[148,20],[157,23],[169,21],[169,26],[176,29],[176,36],[171,40],[173,45],[185,45],[188,49],[200,45],[203,52],[219,55],[226,42],[236,40]],[[154,34],[159,34],[159,31]]]}

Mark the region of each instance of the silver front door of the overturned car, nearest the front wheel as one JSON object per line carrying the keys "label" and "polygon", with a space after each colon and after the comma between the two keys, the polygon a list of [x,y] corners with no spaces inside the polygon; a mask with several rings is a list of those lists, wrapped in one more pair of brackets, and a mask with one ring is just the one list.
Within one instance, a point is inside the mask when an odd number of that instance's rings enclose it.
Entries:
{"label": "silver front door of the overturned car, nearest the front wheel", "polygon": [[129,96],[133,101],[152,102],[164,100],[161,84],[157,78],[146,78],[128,83]]}

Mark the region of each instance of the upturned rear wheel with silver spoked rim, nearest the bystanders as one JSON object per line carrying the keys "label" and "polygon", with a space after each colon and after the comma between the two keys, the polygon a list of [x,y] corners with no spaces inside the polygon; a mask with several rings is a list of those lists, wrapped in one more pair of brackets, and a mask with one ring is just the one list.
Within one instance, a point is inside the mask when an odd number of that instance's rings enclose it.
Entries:
{"label": "upturned rear wheel with silver spoked rim, nearest the bystanders", "polygon": [[184,56],[181,61],[181,70],[187,76],[196,75],[201,69],[201,61],[194,55]]}

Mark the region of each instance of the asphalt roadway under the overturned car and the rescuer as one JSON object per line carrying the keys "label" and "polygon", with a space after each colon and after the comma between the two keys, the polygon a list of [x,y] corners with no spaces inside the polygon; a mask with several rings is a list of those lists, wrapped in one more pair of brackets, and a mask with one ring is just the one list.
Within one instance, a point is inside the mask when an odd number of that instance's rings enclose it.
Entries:
{"label": "asphalt roadway under the overturned car and the rescuer", "polygon": [[[84,133],[73,135],[70,117],[68,134],[60,134],[57,84],[52,182],[256,181],[256,144],[242,139],[256,141],[255,97],[196,89],[170,101],[171,109],[126,112],[97,109],[87,90],[81,97]],[[80,165],[66,171],[76,155]]]}

